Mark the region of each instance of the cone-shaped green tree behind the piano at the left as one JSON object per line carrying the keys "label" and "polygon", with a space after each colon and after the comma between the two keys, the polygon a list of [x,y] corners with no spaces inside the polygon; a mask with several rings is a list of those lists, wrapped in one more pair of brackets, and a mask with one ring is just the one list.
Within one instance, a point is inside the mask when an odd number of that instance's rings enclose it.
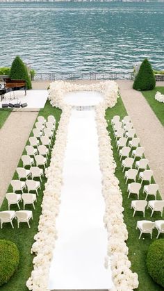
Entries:
{"label": "cone-shaped green tree behind the piano at the left", "polygon": [[26,65],[24,65],[23,61],[19,56],[16,56],[16,58],[13,60],[13,63],[11,65],[10,69],[10,78],[13,80],[21,79],[26,81],[26,88],[31,89],[31,78],[28,75],[28,71],[26,68]]}

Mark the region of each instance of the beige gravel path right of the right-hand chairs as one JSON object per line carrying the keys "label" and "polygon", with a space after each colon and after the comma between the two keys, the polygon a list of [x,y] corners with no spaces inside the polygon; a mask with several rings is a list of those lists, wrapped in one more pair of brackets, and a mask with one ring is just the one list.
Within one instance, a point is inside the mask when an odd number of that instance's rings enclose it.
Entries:
{"label": "beige gravel path right of the right-hand chairs", "polygon": [[[141,92],[133,90],[131,81],[117,81],[120,94],[133,126],[145,147],[145,156],[149,167],[154,171],[154,178],[164,198],[164,128]],[[164,82],[156,85],[164,86]]]}

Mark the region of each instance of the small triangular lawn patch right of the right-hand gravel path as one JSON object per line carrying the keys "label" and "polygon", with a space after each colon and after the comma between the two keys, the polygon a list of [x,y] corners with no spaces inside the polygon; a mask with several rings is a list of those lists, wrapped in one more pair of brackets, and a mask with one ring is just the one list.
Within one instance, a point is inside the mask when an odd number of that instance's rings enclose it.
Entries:
{"label": "small triangular lawn patch right of the right-hand gravel path", "polygon": [[145,99],[147,99],[147,102],[154,111],[156,117],[159,119],[161,124],[164,125],[164,104],[154,98],[157,91],[161,92],[161,94],[164,94],[164,87],[156,87],[150,91],[142,91],[142,94]]}

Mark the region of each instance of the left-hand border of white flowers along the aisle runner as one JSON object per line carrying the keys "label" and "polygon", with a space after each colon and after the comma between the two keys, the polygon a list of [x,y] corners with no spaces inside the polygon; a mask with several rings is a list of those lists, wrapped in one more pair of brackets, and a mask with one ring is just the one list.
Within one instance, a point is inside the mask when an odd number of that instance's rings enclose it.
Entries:
{"label": "left-hand border of white flowers along the aisle runner", "polygon": [[49,267],[57,238],[56,216],[60,205],[63,160],[67,145],[67,126],[70,113],[71,107],[65,106],[56,131],[56,142],[51,152],[51,163],[46,171],[47,183],[45,183],[42,200],[42,214],[38,224],[38,233],[34,236],[35,242],[31,248],[31,253],[35,253],[33,271],[26,282],[28,289],[33,291],[49,290],[47,288]]}

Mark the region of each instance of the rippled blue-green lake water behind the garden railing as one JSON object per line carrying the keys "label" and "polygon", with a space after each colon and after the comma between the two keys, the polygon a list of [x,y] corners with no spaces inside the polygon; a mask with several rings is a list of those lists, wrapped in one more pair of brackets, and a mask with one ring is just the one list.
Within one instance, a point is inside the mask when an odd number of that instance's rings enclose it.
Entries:
{"label": "rippled blue-green lake water behind the garden railing", "polygon": [[37,72],[164,69],[164,3],[0,3],[0,67]]}

